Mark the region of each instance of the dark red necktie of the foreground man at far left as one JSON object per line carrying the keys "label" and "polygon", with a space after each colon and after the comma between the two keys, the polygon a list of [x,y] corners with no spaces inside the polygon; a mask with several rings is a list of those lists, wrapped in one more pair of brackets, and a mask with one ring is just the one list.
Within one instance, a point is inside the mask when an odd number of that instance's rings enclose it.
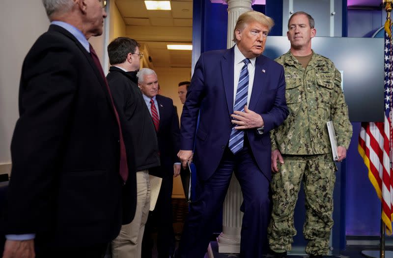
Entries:
{"label": "dark red necktie of the foreground man at far left", "polygon": [[100,60],[98,59],[98,56],[96,52],[94,51],[93,47],[90,45],[90,54],[91,57],[93,58],[93,61],[95,65],[97,66],[98,70],[100,71],[104,81],[105,85],[107,86],[107,90],[109,93],[109,96],[111,98],[112,102],[112,107],[114,111],[114,115],[116,117],[117,125],[119,127],[119,138],[120,138],[120,166],[119,166],[119,172],[120,176],[123,179],[124,183],[127,181],[128,178],[128,165],[127,165],[127,154],[126,154],[126,147],[124,145],[124,140],[123,140],[123,133],[121,132],[121,126],[120,126],[120,119],[119,119],[119,114],[117,114],[116,108],[114,107],[111,91],[109,90],[109,85],[107,78],[105,77],[104,70],[102,70]]}

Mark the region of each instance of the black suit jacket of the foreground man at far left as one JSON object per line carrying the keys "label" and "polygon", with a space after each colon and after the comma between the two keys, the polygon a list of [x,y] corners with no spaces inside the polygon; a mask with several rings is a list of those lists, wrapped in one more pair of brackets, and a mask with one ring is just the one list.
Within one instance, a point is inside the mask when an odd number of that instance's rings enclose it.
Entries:
{"label": "black suit jacket of the foreground man at far left", "polygon": [[37,242],[54,246],[109,242],[121,227],[122,189],[133,207],[126,217],[134,216],[135,173],[122,188],[119,128],[104,79],[84,47],[57,25],[29,50],[5,234],[34,233]]}

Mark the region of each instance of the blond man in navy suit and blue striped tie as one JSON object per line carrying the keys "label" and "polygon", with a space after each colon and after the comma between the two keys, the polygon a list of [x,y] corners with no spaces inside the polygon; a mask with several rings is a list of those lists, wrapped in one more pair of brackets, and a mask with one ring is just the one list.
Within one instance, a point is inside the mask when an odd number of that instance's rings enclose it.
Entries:
{"label": "blond man in navy suit and blue striped tie", "polygon": [[271,18],[246,12],[234,29],[236,45],[202,53],[196,64],[181,116],[178,157],[183,166],[194,158],[198,193],[176,258],[204,256],[232,172],[244,198],[240,257],[260,258],[267,251],[269,131],[288,115],[284,70],[261,55],[272,26]]}

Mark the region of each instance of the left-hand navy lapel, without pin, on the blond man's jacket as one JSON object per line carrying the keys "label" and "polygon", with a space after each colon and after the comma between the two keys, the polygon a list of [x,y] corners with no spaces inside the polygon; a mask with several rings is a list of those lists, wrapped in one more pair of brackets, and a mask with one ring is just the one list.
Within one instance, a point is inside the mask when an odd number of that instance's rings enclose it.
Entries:
{"label": "left-hand navy lapel, without pin, on the blond man's jacket", "polygon": [[221,60],[221,73],[224,81],[226,105],[229,116],[233,113],[233,76],[234,76],[234,47],[228,49]]}

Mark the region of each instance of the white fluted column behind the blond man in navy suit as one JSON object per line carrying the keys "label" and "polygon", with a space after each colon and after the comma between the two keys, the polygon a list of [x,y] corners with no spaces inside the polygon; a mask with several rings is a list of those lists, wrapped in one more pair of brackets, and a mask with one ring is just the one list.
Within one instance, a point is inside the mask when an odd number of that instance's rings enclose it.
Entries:
{"label": "white fluted column behind the blond man in navy suit", "polygon": [[[253,10],[251,5],[255,0],[225,0],[228,3],[228,33],[226,47],[233,47],[233,30],[239,16]],[[235,175],[226,193],[223,208],[223,232],[217,239],[219,253],[240,253],[240,231],[242,228],[243,212],[240,205],[243,195]]]}

